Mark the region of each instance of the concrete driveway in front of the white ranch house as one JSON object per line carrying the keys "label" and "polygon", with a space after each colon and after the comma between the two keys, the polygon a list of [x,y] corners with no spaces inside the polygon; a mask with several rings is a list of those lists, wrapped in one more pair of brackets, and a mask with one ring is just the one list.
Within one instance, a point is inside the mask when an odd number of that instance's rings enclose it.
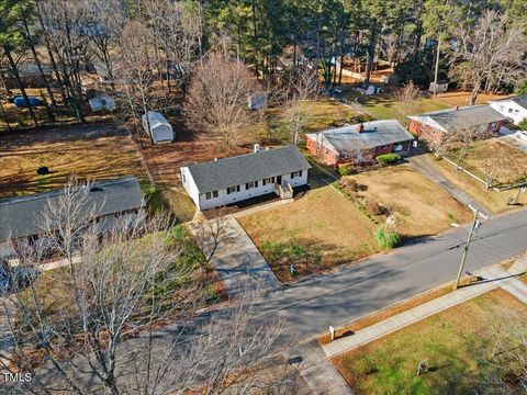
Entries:
{"label": "concrete driveway in front of the white ranch house", "polygon": [[[217,246],[211,263],[225,285],[229,297],[234,298],[246,291],[269,290],[282,284],[258,248],[232,215],[224,217],[226,241]],[[198,223],[190,226],[197,230]]]}

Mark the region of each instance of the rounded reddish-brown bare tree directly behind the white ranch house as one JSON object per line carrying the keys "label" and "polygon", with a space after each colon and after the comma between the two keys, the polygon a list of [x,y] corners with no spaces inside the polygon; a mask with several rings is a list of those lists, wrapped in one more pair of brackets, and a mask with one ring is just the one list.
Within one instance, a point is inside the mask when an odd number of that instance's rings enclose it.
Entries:
{"label": "rounded reddish-brown bare tree directly behind the white ranch house", "polygon": [[256,125],[248,98],[259,91],[247,66],[210,54],[192,76],[183,105],[187,125],[197,134],[221,137],[229,155]]}

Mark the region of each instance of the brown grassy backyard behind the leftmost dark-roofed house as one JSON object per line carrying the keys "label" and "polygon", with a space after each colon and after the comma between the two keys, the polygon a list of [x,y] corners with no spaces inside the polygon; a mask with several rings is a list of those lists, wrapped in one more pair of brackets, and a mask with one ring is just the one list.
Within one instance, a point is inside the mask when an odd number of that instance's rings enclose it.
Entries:
{"label": "brown grassy backyard behind the leftmost dark-roofed house", "polygon": [[[135,143],[125,129],[91,124],[0,134],[0,196],[60,188],[69,176],[102,180],[146,179]],[[46,166],[49,173],[38,176]]]}

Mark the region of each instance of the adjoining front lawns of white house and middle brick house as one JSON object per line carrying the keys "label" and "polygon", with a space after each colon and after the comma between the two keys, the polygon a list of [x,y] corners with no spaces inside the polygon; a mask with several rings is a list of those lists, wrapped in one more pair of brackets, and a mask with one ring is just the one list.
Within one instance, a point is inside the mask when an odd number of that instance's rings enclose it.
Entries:
{"label": "adjoining front lawns of white house and middle brick house", "polygon": [[310,176],[315,189],[290,204],[238,218],[281,281],[291,280],[291,263],[302,276],[381,251],[375,232],[390,214],[403,241],[437,234],[471,216],[406,165],[343,178],[334,182],[335,189],[324,185],[324,172],[315,169]]}

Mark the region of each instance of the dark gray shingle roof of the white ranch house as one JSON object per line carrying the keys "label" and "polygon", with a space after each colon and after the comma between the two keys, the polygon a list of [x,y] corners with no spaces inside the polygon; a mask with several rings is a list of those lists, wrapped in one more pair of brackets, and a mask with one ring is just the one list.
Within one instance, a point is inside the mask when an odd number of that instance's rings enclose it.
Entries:
{"label": "dark gray shingle roof of the white ranch house", "polygon": [[261,150],[188,167],[200,193],[311,169],[295,146]]}

